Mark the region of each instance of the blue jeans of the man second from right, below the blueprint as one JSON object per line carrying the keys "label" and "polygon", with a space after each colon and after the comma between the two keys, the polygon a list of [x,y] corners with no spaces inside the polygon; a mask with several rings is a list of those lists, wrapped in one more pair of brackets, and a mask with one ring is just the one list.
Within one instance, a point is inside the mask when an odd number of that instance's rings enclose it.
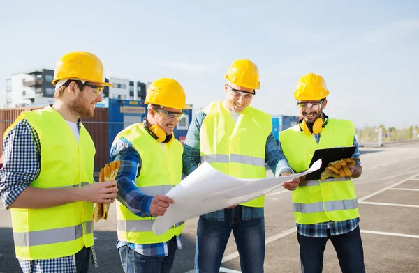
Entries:
{"label": "blue jeans of the man second from right, below the blueprint", "polygon": [[233,210],[226,210],[224,221],[210,221],[199,217],[195,253],[197,273],[219,272],[231,231],[240,254],[242,272],[263,272],[265,218],[243,220],[241,212],[237,211],[233,215]]}

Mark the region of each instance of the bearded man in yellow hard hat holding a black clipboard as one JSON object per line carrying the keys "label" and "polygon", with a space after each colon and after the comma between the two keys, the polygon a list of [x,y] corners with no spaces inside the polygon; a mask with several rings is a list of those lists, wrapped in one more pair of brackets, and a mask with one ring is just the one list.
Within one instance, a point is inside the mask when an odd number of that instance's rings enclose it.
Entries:
{"label": "bearded man in yellow hard hat holding a black clipboard", "polygon": [[321,272],[323,252],[330,239],[342,272],[365,272],[360,214],[352,178],[362,167],[350,120],[328,118],[323,112],[330,91],[320,75],[300,78],[294,98],[302,120],[279,134],[279,144],[295,172],[309,168],[316,149],[355,146],[352,158],[331,162],[320,180],[300,183],[293,192],[293,210],[300,243],[302,272]]}

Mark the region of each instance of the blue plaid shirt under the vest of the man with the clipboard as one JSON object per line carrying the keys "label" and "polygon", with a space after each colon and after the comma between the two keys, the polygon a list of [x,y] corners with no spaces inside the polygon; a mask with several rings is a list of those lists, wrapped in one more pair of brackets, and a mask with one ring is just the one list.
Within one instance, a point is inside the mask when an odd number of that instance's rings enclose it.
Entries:
{"label": "blue plaid shirt under the vest of the man with the clipboard", "polygon": [[[316,142],[320,141],[320,134],[313,134]],[[360,150],[358,149],[358,143],[355,137],[353,138],[353,146],[355,146],[355,152],[352,157],[360,157]],[[281,142],[279,142],[279,148],[282,150]],[[361,162],[357,162],[361,164]],[[298,224],[297,231],[303,236],[307,237],[328,237],[328,229],[330,229],[330,235],[335,236],[339,234],[348,233],[353,231],[359,224],[360,218],[349,219],[346,221],[328,221],[317,224]]]}

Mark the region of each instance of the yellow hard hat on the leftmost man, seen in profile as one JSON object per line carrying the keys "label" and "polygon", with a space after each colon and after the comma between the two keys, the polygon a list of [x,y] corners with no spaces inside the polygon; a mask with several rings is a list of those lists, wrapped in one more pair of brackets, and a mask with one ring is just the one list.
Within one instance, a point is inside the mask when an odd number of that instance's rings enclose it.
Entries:
{"label": "yellow hard hat on the leftmost man, seen in profile", "polygon": [[89,52],[68,52],[55,65],[52,84],[61,79],[80,79],[100,86],[114,86],[105,82],[103,64],[94,54]]}

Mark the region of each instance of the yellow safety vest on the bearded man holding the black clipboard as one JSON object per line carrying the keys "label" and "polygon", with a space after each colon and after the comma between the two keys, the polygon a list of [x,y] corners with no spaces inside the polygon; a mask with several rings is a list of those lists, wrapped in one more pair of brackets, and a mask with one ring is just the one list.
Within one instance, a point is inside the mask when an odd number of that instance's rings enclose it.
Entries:
{"label": "yellow safety vest on the bearded man holding the black clipboard", "polygon": [[[301,132],[295,125],[279,134],[284,155],[296,172],[309,168],[316,149],[352,146],[354,129],[349,120],[329,119],[319,143],[312,135]],[[309,180],[293,191],[293,210],[298,224],[316,224],[325,221],[344,221],[359,217],[355,188],[350,178]]]}

